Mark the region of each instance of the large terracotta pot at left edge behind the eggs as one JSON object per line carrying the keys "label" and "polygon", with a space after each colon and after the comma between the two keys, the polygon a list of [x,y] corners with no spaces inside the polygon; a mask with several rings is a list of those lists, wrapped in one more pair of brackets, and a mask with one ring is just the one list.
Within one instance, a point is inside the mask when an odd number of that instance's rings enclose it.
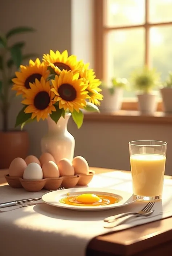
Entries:
{"label": "large terracotta pot at left edge behind the eggs", "polygon": [[0,169],[9,168],[16,157],[28,155],[29,136],[26,131],[0,131]]}

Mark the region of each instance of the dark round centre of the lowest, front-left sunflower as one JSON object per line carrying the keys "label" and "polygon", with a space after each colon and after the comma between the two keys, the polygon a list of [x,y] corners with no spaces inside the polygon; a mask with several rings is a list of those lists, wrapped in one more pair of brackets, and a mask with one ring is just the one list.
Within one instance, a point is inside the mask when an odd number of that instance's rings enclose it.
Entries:
{"label": "dark round centre of the lowest, front-left sunflower", "polygon": [[50,96],[47,92],[39,92],[34,98],[34,106],[36,109],[43,110],[48,107],[50,103]]}

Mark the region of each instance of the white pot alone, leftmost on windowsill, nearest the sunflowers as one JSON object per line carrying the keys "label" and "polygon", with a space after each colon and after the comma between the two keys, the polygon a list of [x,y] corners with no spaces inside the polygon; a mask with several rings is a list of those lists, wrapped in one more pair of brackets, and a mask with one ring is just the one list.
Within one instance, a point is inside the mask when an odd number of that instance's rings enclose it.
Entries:
{"label": "white pot alone, leftmost on windowsill, nearest the sunflowers", "polygon": [[101,94],[104,96],[101,106],[99,106],[101,111],[118,111],[121,109],[123,99],[122,88],[115,88],[113,94],[108,89],[103,88]]}

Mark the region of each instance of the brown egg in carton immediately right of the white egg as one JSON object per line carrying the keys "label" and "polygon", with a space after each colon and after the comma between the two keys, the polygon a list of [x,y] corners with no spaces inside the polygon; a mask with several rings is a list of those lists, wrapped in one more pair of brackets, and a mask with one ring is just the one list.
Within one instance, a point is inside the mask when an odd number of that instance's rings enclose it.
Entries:
{"label": "brown egg in carton immediately right of the white egg", "polygon": [[43,179],[45,178],[59,178],[60,173],[58,166],[53,161],[46,162],[42,165]]}

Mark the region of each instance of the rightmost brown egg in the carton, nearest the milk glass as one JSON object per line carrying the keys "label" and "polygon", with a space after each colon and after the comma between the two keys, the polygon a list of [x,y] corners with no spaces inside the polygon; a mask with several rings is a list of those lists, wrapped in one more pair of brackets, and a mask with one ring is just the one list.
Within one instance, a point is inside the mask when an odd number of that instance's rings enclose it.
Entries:
{"label": "rightmost brown egg in the carton, nearest the milk glass", "polygon": [[75,174],[87,174],[89,171],[89,165],[85,158],[75,157],[72,161]]}

